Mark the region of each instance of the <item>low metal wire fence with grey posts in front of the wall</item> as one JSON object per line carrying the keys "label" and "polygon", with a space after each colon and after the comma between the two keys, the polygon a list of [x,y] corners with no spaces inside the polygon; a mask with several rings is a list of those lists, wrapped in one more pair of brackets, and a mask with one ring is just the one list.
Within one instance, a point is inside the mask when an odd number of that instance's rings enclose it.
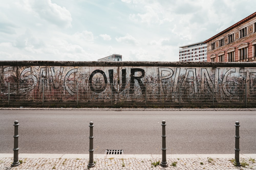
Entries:
{"label": "low metal wire fence with grey posts in front of the wall", "polygon": [[[68,89],[67,89],[68,86]],[[6,83],[1,106],[255,106],[256,84]]]}

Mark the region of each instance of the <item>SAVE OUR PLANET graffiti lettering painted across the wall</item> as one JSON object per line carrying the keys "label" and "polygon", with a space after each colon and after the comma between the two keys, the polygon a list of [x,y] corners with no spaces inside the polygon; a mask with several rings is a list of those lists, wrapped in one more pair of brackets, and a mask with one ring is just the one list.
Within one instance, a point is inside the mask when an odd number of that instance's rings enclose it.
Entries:
{"label": "SAVE OUR PLANET graffiti lettering painted across the wall", "polygon": [[[63,89],[64,94],[77,94],[77,83],[95,94],[144,94],[146,88],[164,93],[189,86],[189,93],[205,87],[229,95],[232,84],[255,84],[256,68],[203,67],[70,67],[70,66],[0,66],[1,93],[8,83],[18,83],[19,93],[41,89]],[[219,85],[222,85],[219,88]],[[204,87],[204,88],[202,88]]]}

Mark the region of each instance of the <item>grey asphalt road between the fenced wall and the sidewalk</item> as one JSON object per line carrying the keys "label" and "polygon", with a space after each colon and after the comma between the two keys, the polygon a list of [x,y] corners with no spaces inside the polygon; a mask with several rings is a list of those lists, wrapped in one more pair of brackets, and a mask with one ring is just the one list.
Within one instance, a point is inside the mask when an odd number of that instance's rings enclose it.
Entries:
{"label": "grey asphalt road between the fenced wall and the sidewalk", "polygon": [[89,154],[93,121],[94,153],[161,154],[162,120],[167,154],[232,154],[236,121],[240,153],[256,153],[255,111],[0,110],[0,153],[13,153],[15,120],[19,153]]}

